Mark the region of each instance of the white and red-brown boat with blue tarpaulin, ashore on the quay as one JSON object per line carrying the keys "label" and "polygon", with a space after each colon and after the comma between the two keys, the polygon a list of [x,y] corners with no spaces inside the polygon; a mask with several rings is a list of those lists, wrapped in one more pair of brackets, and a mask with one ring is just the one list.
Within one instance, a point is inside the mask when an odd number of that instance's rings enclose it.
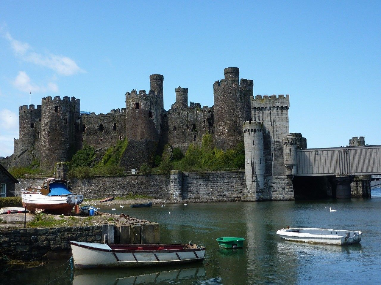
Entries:
{"label": "white and red-brown boat with blue tarpaulin, ashore on the quay", "polygon": [[75,205],[83,202],[83,195],[69,191],[67,181],[58,178],[39,179],[31,187],[21,190],[22,206],[35,212],[68,214]]}

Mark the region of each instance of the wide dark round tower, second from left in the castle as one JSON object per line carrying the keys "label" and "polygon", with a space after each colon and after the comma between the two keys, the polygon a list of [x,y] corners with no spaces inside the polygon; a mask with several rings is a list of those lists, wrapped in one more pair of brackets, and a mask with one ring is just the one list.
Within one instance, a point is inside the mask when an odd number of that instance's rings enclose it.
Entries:
{"label": "wide dark round tower, second from left in the castle", "polygon": [[74,97],[42,98],[41,161],[44,169],[55,162],[69,161],[76,151],[75,129],[80,118],[80,101]]}

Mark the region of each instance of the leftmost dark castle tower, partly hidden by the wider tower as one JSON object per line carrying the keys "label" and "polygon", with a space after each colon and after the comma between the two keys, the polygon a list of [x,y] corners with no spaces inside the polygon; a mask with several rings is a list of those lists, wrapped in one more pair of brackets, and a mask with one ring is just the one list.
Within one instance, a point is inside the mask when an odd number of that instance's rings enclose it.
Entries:
{"label": "leftmost dark castle tower, partly hidden by the wider tower", "polygon": [[35,145],[37,124],[41,120],[41,105],[23,105],[19,107],[19,140],[18,150],[29,149]]}

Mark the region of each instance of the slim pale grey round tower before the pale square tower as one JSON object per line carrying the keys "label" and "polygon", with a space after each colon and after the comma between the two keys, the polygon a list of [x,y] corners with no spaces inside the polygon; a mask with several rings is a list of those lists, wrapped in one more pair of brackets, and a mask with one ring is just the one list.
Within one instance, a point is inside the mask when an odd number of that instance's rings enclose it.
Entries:
{"label": "slim pale grey round tower before the pale square tower", "polygon": [[248,190],[263,189],[265,182],[265,161],[263,152],[263,122],[244,122],[245,177]]}

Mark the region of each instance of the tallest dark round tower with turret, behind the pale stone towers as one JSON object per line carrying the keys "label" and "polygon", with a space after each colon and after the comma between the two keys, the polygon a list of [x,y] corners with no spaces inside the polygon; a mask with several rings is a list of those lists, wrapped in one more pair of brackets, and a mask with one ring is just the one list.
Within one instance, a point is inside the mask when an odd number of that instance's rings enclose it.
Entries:
{"label": "tallest dark round tower with turret, behind the pale stone towers", "polygon": [[219,149],[234,148],[242,140],[243,122],[250,117],[253,81],[241,79],[239,68],[224,69],[225,78],[213,84],[215,143]]}

